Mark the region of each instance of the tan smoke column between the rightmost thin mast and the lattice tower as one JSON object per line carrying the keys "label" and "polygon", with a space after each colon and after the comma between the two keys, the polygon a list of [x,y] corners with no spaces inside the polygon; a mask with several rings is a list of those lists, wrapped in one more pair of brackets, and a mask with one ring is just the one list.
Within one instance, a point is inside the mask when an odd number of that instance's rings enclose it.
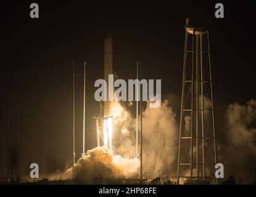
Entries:
{"label": "tan smoke column between the rightmost thin mast and the lattice tower", "polygon": [[156,177],[159,170],[170,171],[175,161],[178,123],[167,100],[159,108],[147,107],[142,114],[144,171],[151,170],[152,176]]}

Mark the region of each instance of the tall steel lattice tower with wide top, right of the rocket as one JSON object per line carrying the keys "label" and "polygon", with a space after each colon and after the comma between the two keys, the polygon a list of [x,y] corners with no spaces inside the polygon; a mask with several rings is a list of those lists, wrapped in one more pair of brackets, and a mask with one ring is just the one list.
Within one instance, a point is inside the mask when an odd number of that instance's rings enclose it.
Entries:
{"label": "tall steel lattice tower with wide top, right of the rocket", "polygon": [[178,183],[216,181],[217,142],[212,93],[209,31],[187,19],[183,62]]}

